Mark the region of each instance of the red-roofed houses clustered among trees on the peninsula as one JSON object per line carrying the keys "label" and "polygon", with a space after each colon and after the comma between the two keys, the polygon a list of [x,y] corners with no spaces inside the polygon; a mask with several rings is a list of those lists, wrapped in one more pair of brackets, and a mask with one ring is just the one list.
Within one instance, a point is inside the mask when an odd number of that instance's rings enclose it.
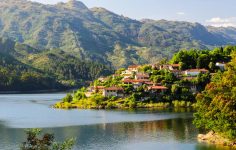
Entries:
{"label": "red-roofed houses clustered among trees on the peninsula", "polygon": [[[217,63],[216,65],[219,65],[220,69],[224,69],[225,65],[223,63]],[[121,74],[113,75],[113,78],[115,76],[121,76],[122,82],[126,85],[132,85],[134,89],[139,88],[140,86],[146,85],[147,90],[151,93],[163,93],[166,90],[168,90],[167,87],[161,85],[161,83],[154,83],[150,80],[150,76],[147,73],[143,73],[139,71],[139,68],[141,66],[139,65],[132,65],[129,66],[128,69],[121,72]],[[166,64],[166,65],[152,65],[153,69],[156,70],[169,70],[172,72],[177,78],[184,78],[187,80],[193,80],[195,79],[200,73],[205,74],[209,71],[206,69],[188,69],[188,70],[180,70],[179,64]],[[99,78],[100,82],[105,82],[107,78]],[[196,92],[196,86],[191,85],[190,90],[192,92]],[[105,97],[124,97],[124,89],[122,87],[105,87],[105,86],[91,86],[88,89],[87,96],[91,95],[92,93],[102,93]]]}

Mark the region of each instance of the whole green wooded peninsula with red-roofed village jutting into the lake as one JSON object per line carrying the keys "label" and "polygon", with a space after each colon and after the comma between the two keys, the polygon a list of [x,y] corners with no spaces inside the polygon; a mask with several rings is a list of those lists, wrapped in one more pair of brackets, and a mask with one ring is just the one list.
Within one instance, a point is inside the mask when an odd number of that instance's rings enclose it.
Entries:
{"label": "whole green wooded peninsula with red-roofed village jutting into the lake", "polygon": [[[193,107],[196,95],[227,68],[236,47],[182,50],[170,62],[133,65],[68,94],[55,108]],[[220,66],[217,66],[219,65]]]}

